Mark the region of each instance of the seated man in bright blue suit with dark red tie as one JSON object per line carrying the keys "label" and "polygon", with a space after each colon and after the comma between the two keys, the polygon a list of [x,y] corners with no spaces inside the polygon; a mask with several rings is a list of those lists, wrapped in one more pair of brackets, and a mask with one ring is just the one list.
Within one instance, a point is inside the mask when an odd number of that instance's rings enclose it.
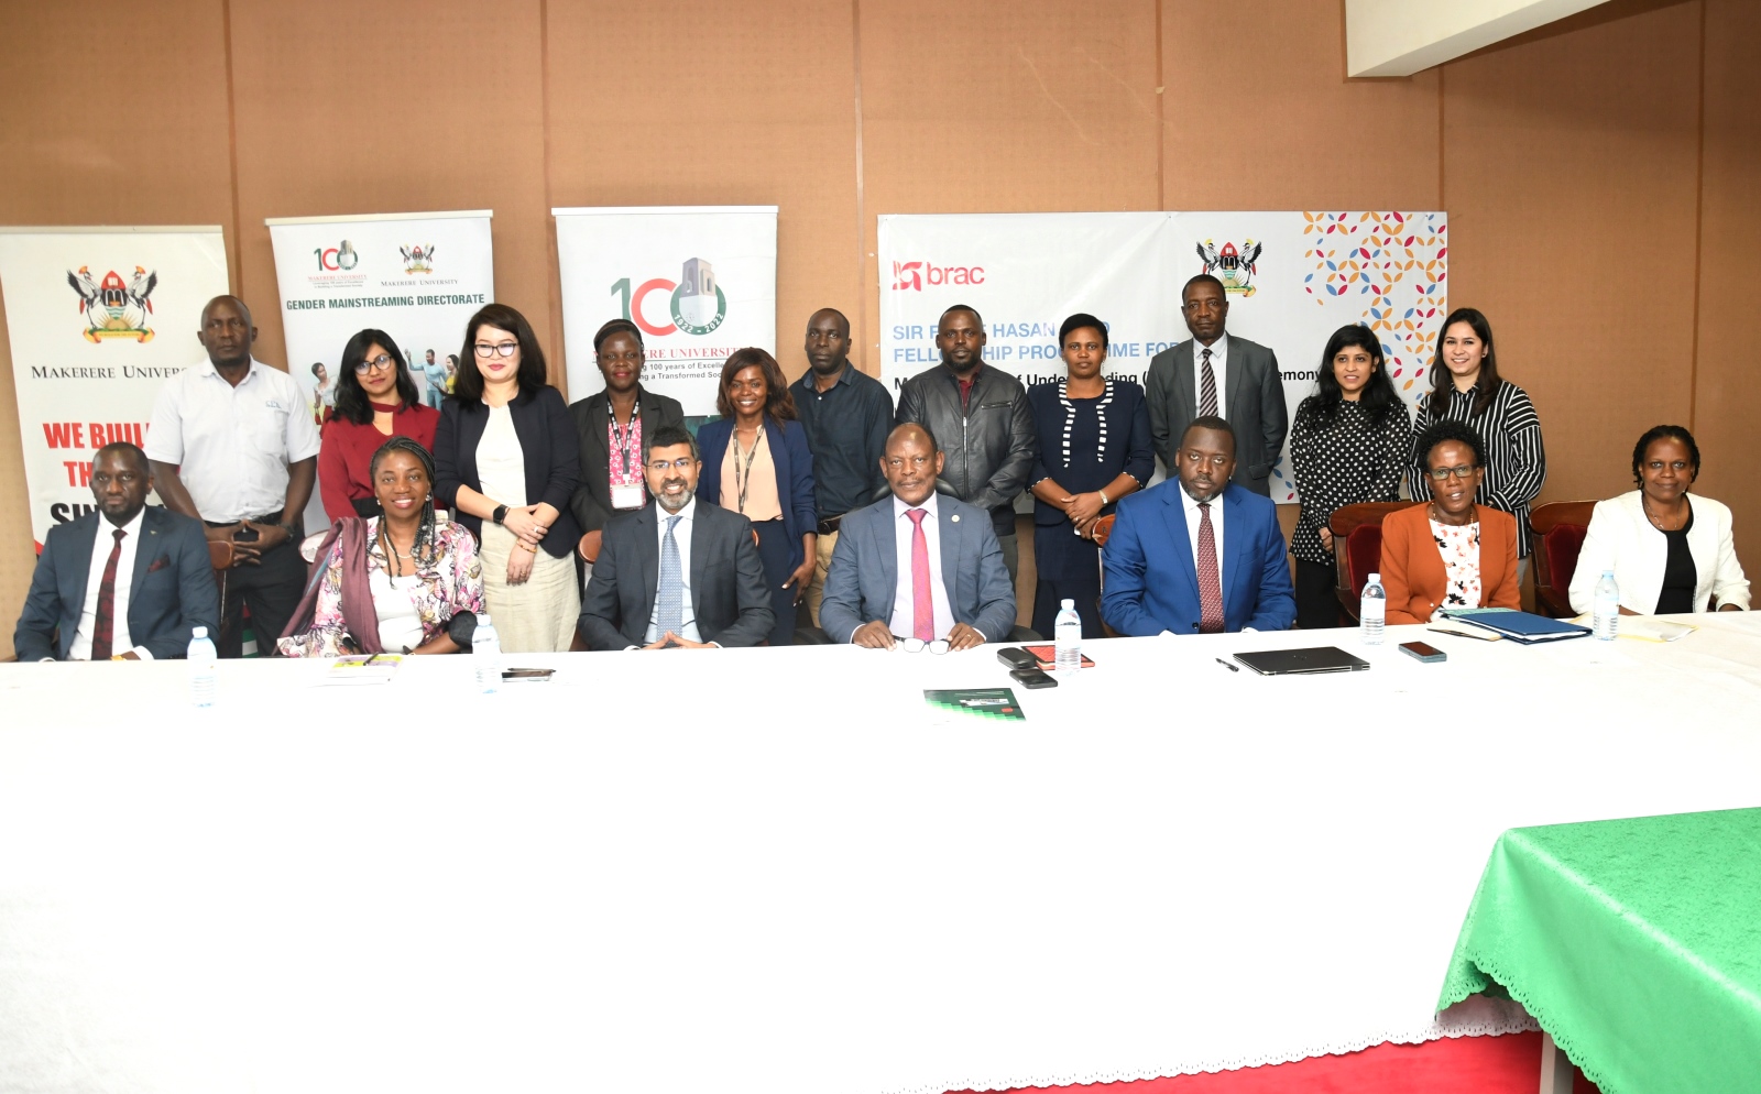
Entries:
{"label": "seated man in bright blue suit with dark red tie", "polygon": [[1291,564],[1271,499],[1229,481],[1234,430],[1217,416],[1187,426],[1180,481],[1118,504],[1101,551],[1101,617],[1120,634],[1287,631]]}

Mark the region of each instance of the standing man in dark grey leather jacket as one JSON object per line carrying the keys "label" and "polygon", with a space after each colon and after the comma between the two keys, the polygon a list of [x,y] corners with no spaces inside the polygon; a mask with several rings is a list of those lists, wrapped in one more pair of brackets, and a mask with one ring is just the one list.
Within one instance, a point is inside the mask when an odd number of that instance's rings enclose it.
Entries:
{"label": "standing man in dark grey leather jacket", "polygon": [[942,363],[905,381],[898,393],[898,425],[930,430],[946,458],[942,481],[954,497],[991,514],[1009,580],[1020,564],[1014,539],[1014,499],[1027,486],[1039,455],[1034,407],[1021,381],[984,363],[984,321],[954,305],[935,328]]}

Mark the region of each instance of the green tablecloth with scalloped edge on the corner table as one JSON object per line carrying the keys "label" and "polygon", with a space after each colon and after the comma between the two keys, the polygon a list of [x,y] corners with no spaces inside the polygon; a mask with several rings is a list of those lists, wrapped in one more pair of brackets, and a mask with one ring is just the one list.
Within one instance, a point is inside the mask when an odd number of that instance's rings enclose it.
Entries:
{"label": "green tablecloth with scalloped edge on the corner table", "polygon": [[1506,832],[1437,1008],[1474,992],[1603,1094],[1761,1090],[1761,809]]}

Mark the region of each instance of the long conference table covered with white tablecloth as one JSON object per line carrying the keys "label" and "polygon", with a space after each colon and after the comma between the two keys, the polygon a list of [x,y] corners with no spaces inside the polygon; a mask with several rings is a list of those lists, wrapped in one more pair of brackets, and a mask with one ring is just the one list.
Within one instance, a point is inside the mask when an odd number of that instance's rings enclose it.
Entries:
{"label": "long conference table covered with white tablecloth", "polygon": [[[939,1094],[1534,1029],[1433,1013],[1514,826],[1761,798],[1761,617],[1669,645],[0,666],[0,1090]],[[1419,664],[1396,643],[1449,654]],[[1338,643],[1367,673],[1217,657]]]}

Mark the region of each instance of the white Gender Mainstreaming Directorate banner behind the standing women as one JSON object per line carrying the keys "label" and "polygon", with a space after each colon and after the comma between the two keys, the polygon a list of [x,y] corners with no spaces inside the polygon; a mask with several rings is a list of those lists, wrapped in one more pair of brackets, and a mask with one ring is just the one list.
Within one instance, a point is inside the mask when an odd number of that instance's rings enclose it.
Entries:
{"label": "white Gender Mainstreaming Directorate banner behind the standing women", "polygon": [[[465,322],[495,299],[490,210],[269,218],[282,287],[287,372],[317,421],[336,398],[342,349],[366,328],[391,335],[423,402],[438,407]],[[324,529],[312,492],[306,527]]]}

